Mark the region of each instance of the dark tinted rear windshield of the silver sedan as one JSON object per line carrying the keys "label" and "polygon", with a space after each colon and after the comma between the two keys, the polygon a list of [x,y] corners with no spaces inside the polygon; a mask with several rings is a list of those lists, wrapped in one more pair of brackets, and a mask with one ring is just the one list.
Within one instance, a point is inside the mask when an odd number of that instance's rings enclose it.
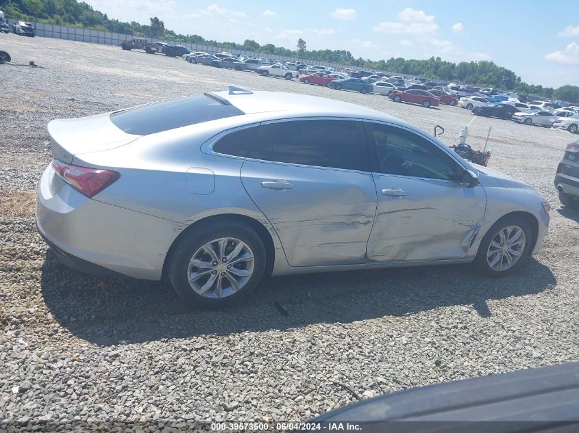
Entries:
{"label": "dark tinted rear windshield of the silver sedan", "polygon": [[118,111],[110,120],[127,134],[149,135],[240,114],[245,113],[233,105],[195,95]]}

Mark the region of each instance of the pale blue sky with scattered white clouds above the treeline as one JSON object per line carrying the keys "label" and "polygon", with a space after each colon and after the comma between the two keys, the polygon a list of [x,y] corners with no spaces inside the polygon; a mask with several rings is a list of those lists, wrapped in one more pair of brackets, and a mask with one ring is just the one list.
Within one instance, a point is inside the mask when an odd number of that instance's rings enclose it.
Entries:
{"label": "pale blue sky with scattered white clouds above the treeline", "polygon": [[[109,18],[219,42],[344,49],[371,60],[492,60],[529,84],[579,86],[579,1],[84,0]],[[555,13],[556,12],[556,13]]]}

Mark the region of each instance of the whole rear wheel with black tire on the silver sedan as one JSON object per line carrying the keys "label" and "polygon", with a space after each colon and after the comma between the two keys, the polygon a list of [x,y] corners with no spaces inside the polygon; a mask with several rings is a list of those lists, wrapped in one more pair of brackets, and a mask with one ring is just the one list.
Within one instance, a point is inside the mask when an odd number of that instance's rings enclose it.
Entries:
{"label": "whole rear wheel with black tire on the silver sedan", "polygon": [[210,223],[178,242],[169,262],[169,280],[190,304],[231,304],[247,296],[262,278],[265,248],[245,224]]}

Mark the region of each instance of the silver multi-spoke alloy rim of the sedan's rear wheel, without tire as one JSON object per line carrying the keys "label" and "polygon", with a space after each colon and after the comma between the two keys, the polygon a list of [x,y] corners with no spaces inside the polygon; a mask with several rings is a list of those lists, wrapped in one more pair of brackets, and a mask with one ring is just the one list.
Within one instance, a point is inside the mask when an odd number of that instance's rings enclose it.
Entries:
{"label": "silver multi-spoke alloy rim of the sedan's rear wheel, without tire", "polygon": [[187,269],[190,287],[199,296],[219,299],[245,287],[254,272],[254,252],[234,237],[220,237],[201,246]]}

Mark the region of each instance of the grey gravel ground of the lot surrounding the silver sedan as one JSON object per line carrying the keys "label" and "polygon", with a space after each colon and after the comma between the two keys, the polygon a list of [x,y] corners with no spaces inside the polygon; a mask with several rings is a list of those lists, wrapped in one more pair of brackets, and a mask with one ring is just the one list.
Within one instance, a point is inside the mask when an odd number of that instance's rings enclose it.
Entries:
{"label": "grey gravel ground of the lot surrounding the silver sedan", "polygon": [[[45,67],[0,65],[0,423],[306,420],[356,400],[340,384],[367,398],[579,358],[579,214],[560,207],[552,185],[569,133],[471,123],[474,146],[493,127],[490,166],[553,208],[544,250],[517,274],[488,280],[446,266],[288,276],[203,311],[162,283],[101,282],[47,250],[29,192],[51,159],[50,120],[227,84],[350,101],[427,131],[441,124],[447,144],[470,112],[82,42],[8,34],[0,47],[15,64]],[[27,206],[11,205],[19,192]]]}

